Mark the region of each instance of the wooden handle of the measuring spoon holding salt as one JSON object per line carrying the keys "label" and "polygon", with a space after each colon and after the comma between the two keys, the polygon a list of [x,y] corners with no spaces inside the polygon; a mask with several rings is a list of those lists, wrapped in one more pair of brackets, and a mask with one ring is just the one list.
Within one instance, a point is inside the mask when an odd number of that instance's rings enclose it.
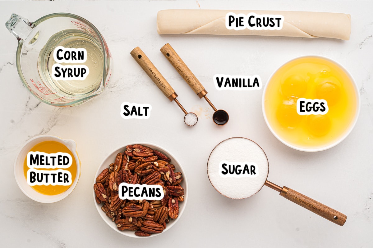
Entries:
{"label": "wooden handle of the measuring spoon holding salt", "polygon": [[153,80],[154,84],[163,92],[163,94],[172,102],[178,95],[170,86],[162,74],[157,70],[150,59],[144,54],[140,47],[136,47],[131,51],[132,57],[141,66],[142,70]]}

